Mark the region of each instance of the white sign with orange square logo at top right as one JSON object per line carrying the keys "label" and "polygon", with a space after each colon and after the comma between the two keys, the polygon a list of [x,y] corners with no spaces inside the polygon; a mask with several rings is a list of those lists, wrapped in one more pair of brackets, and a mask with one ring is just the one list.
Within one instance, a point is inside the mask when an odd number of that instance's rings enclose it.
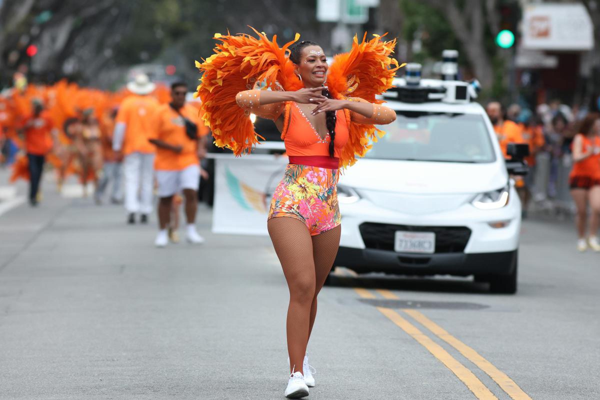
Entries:
{"label": "white sign with orange square logo at top right", "polygon": [[535,4],[523,14],[524,49],[584,51],[594,47],[592,19],[583,4]]}

